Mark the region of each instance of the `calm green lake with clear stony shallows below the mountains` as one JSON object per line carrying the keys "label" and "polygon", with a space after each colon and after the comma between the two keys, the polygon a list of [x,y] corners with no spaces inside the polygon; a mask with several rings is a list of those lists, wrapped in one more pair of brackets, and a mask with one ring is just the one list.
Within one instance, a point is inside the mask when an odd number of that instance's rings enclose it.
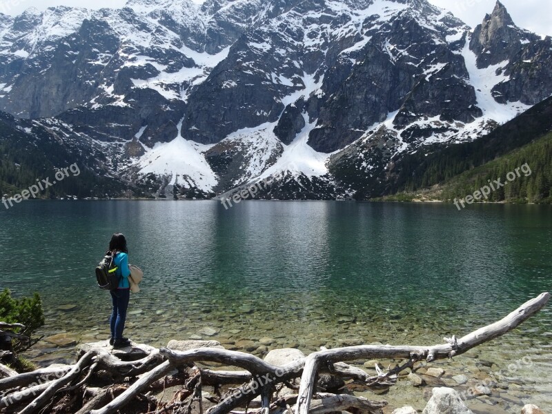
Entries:
{"label": "calm green lake with clear stony shallows below the mountains", "polygon": [[[41,293],[48,335],[103,339],[110,304],[93,270],[114,231],[145,274],[126,333],[155,345],[205,327],[236,348],[441,343],[552,290],[549,206],[304,201],[19,204],[0,210],[0,288]],[[551,322],[548,307],[481,351],[542,360],[549,408]]]}

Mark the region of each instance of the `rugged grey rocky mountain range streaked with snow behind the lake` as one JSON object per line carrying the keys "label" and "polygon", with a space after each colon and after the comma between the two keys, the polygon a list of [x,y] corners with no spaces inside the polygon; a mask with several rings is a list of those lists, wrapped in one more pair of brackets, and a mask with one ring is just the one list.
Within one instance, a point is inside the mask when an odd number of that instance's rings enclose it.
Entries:
{"label": "rugged grey rocky mountain range streaked with snow behind the lake", "polygon": [[157,195],[349,197],[552,95],[552,39],[500,2],[475,30],[426,0],[130,0],[0,32],[0,110]]}

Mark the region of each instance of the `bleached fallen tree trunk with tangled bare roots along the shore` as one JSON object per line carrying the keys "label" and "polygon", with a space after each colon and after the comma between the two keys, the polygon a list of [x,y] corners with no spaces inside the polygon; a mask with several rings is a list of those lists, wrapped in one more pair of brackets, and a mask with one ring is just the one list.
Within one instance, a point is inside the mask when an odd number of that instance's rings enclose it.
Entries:
{"label": "bleached fallen tree trunk with tangled bare roots along the shore", "polygon": [[[460,339],[456,337],[444,338],[446,344],[432,346],[349,346],[346,348],[325,349],[311,353],[284,366],[269,364],[255,355],[238,351],[228,351],[224,348],[195,348],[188,351],[173,351],[167,348],[153,349],[149,355],[134,362],[124,362],[111,355],[106,348],[92,349],[81,357],[77,364],[61,368],[57,371],[57,378],[50,379],[54,372],[48,369],[34,371],[21,375],[14,375],[0,380],[0,408],[15,404],[23,405],[22,414],[37,413],[50,406],[56,397],[80,392],[83,389],[94,389],[88,402],[74,412],[79,414],[108,414],[120,411],[124,406],[137,400],[152,401],[148,393],[162,391],[167,384],[184,384],[190,386],[192,377],[197,377],[193,390],[186,389],[181,397],[186,401],[178,400],[170,404],[159,404],[157,411],[175,412],[190,410],[193,402],[201,405],[201,385],[213,385],[215,387],[228,384],[242,384],[238,388],[230,389],[217,400],[216,405],[206,411],[207,414],[228,414],[239,407],[248,406],[251,400],[262,395],[262,409],[259,414],[268,414],[273,408],[271,399],[275,387],[279,384],[289,384],[291,380],[301,378],[297,400],[286,400],[284,409],[287,414],[293,410],[295,414],[324,414],[330,411],[347,411],[355,413],[381,413],[386,402],[369,402],[352,395],[324,394],[322,399],[319,394],[313,398],[317,374],[328,372],[344,378],[353,378],[366,386],[389,386],[395,383],[398,373],[405,368],[413,366],[415,362],[425,359],[433,362],[435,359],[451,358],[461,355],[469,349],[488,342],[495,337],[504,335],[511,329],[519,326],[534,313],[540,311],[549,301],[549,293],[543,293],[535,299],[517,308],[516,311],[484,328],[465,335]],[[370,376],[363,370],[345,364],[346,361],[358,359],[404,359],[406,363],[393,368],[388,372],[377,371],[376,376]],[[244,371],[213,371],[210,369],[193,368],[190,366],[197,362],[219,362],[224,366],[235,366]],[[88,388],[95,373],[105,371],[120,382],[117,395],[110,393],[106,388]],[[48,376],[50,375],[50,376]],[[199,377],[198,377],[199,375]],[[38,379],[47,378],[46,384],[32,386]],[[187,382],[186,382],[187,381]],[[30,388],[26,388],[30,387]],[[79,389],[81,391],[79,391]],[[110,388],[112,389],[112,388]],[[297,388],[295,388],[297,389]],[[30,404],[29,397],[38,394]],[[293,399],[293,401],[295,401]],[[75,397],[68,398],[77,400]],[[293,405],[293,407],[292,407]],[[14,406],[10,406],[14,409]],[[88,410],[88,411],[87,411]]]}

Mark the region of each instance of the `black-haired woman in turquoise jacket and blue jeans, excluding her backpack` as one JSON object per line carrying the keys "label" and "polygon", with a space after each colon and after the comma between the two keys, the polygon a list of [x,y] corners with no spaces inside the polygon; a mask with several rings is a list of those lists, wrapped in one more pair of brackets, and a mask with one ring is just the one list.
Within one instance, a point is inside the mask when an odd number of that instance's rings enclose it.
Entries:
{"label": "black-haired woman in turquoise jacket and blue jeans, excluding her backpack", "polygon": [[130,300],[130,269],[128,268],[128,248],[126,247],[126,238],[121,233],[115,233],[109,242],[109,251],[114,257],[115,266],[117,266],[117,276],[119,277],[119,286],[116,290],[111,290],[111,299],[113,311],[109,321],[111,328],[111,339],[109,341],[113,348],[125,348],[130,346],[130,340],[123,336],[126,321],[126,311],[128,301]]}

